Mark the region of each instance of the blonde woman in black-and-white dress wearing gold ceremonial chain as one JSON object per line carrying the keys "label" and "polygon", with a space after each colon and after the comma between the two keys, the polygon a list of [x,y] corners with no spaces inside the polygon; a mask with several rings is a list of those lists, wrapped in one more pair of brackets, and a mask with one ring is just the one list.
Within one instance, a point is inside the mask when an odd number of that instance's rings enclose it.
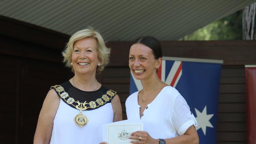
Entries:
{"label": "blonde woman in black-and-white dress wearing gold ceremonial chain", "polygon": [[34,144],[98,144],[102,124],[122,120],[118,95],[95,78],[108,64],[110,49],[88,28],[74,33],[62,54],[74,76],[46,95]]}

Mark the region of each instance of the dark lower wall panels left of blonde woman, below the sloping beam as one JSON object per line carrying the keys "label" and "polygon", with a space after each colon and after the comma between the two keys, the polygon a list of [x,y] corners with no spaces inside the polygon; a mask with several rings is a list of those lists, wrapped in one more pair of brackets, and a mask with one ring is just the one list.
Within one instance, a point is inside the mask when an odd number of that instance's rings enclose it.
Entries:
{"label": "dark lower wall panels left of blonde woman, below the sloping beam", "polygon": [[51,85],[69,79],[61,63],[0,54],[0,143],[32,144],[39,112]]}

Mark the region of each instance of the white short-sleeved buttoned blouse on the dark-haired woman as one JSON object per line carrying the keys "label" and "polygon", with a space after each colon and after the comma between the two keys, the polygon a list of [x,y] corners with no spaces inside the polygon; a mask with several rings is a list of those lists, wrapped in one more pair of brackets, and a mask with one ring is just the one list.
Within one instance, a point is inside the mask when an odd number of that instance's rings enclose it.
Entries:
{"label": "white short-sleeved buttoned blouse on the dark-haired woman", "polygon": [[190,126],[197,126],[195,116],[190,112],[186,100],[171,86],[161,90],[147,105],[141,118],[138,92],[131,94],[125,105],[128,120],[143,122],[143,131],[147,131],[152,138],[177,137],[183,135]]}

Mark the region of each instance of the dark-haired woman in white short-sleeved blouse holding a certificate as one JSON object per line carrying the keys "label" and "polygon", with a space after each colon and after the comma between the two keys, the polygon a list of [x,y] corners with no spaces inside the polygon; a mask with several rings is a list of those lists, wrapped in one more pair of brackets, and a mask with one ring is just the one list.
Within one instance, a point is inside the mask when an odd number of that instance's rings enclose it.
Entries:
{"label": "dark-haired woman in white short-sleeved blouse holding a certificate", "polygon": [[[184,98],[161,81],[157,70],[162,62],[160,42],[152,36],[135,40],[130,48],[129,67],[143,89],[126,100],[128,120],[140,120],[145,131],[136,131],[134,144],[198,144],[195,117]],[[139,140],[139,141],[134,141]]]}

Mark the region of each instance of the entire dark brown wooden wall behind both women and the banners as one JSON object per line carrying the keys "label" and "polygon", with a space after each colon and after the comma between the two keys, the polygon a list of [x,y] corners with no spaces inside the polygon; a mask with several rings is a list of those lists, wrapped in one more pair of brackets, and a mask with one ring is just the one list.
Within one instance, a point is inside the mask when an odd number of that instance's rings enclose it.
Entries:
{"label": "entire dark brown wooden wall behind both women and the banners", "polygon": [[[51,85],[72,76],[61,63],[69,36],[0,17],[0,144],[30,144],[39,111]],[[245,144],[245,64],[256,64],[256,41],[165,41],[163,55],[223,59],[218,113],[218,144]],[[131,42],[108,42],[110,64],[97,76],[124,102],[129,94]]]}

